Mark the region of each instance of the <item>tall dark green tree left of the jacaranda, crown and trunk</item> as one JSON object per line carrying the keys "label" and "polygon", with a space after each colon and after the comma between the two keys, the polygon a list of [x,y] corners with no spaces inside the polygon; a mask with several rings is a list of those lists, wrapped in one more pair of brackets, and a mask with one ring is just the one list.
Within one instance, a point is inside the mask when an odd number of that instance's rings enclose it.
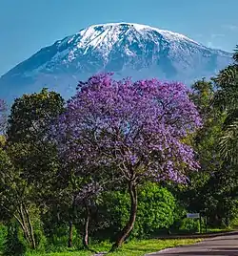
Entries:
{"label": "tall dark green tree left of the jacaranda, crown and trunk", "polygon": [[[47,138],[51,123],[63,111],[63,98],[47,89],[15,99],[10,110],[6,146],[13,173],[20,173],[16,186],[23,183],[22,197],[30,196],[23,205],[29,220],[32,205],[46,208],[50,198],[56,196],[52,187],[59,160],[56,148]],[[30,235],[34,239],[33,224]],[[31,247],[35,246],[33,242]]]}

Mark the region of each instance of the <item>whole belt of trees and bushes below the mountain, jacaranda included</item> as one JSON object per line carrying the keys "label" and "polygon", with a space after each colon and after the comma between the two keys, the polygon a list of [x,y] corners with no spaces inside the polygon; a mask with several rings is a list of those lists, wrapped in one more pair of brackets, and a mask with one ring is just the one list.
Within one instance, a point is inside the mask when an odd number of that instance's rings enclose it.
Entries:
{"label": "whole belt of trees and bushes below the mountain, jacaranda included", "polygon": [[[0,253],[226,227],[238,214],[238,52],[210,81],[80,82],[0,101]],[[85,253],[85,254],[84,254]],[[82,255],[89,255],[87,251]],[[80,255],[80,254],[79,254]]]}

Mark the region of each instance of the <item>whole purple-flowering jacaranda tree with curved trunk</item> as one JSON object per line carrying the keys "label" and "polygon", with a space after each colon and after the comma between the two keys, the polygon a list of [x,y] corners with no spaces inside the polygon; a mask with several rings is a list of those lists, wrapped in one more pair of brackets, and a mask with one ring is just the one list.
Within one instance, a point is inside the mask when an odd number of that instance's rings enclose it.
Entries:
{"label": "whole purple-flowering jacaranda tree with curved trunk", "polygon": [[100,177],[107,170],[110,179],[120,178],[128,186],[129,221],[111,250],[122,245],[133,228],[138,184],[185,182],[187,171],[199,167],[184,141],[200,126],[199,114],[182,83],[116,81],[111,74],[79,83],[53,133],[69,166],[89,175],[98,169]]}

